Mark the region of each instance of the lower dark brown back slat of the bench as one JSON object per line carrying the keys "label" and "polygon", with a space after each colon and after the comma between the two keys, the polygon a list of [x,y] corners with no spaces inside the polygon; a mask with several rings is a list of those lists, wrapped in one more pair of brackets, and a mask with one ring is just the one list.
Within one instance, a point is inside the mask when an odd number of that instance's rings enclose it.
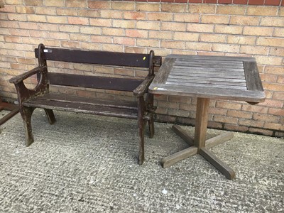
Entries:
{"label": "lower dark brown back slat of the bench", "polygon": [[133,92],[143,80],[48,72],[49,84]]}

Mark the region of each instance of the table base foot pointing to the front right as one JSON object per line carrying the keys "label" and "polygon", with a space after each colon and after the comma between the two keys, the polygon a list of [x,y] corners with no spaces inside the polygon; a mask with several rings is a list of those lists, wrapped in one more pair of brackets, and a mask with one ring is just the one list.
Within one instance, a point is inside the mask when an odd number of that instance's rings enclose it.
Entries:
{"label": "table base foot pointing to the front right", "polygon": [[216,158],[216,156],[212,152],[208,151],[206,148],[200,148],[200,155],[202,155],[203,158],[208,160],[209,163],[214,165],[214,167],[217,168],[217,170],[219,170],[229,180],[235,178],[236,173],[234,172],[234,170],[229,168],[229,166],[226,165],[226,163],[224,163],[222,160]]}

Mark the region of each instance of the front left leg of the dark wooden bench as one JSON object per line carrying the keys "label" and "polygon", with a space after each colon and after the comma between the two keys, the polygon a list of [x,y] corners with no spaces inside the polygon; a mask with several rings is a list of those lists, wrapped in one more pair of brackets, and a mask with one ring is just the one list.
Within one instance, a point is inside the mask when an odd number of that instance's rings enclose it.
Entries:
{"label": "front left leg of the dark wooden bench", "polygon": [[30,146],[33,143],[33,132],[31,129],[31,115],[35,108],[32,107],[23,107],[21,110],[21,116],[23,118],[23,126],[26,133],[26,146]]}

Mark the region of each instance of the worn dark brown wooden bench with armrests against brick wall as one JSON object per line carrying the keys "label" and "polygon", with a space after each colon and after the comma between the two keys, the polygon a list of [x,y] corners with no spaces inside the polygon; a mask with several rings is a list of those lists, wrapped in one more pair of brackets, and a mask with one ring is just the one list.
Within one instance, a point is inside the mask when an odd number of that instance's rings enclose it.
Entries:
{"label": "worn dark brown wooden bench with armrests against brick wall", "polygon": [[[35,49],[35,57],[38,58],[38,67],[10,80],[11,83],[15,84],[18,94],[19,109],[26,131],[26,146],[33,143],[31,115],[35,108],[45,110],[50,124],[55,123],[53,110],[138,119],[138,135],[140,137],[138,163],[141,165],[144,160],[144,126],[147,121],[150,138],[154,134],[153,111],[155,107],[153,106],[153,94],[148,93],[148,87],[155,76],[154,67],[161,65],[161,58],[154,56],[153,50],[149,54],[113,53],[45,48],[43,44],[38,45],[38,48]],[[126,77],[99,77],[48,72],[46,60],[114,67],[143,67],[144,69],[141,70],[148,72],[148,75],[145,79],[140,80]],[[38,77],[38,84],[35,89],[27,89],[23,80],[35,74]],[[107,100],[53,93],[49,91],[51,84],[133,92],[137,101]]]}

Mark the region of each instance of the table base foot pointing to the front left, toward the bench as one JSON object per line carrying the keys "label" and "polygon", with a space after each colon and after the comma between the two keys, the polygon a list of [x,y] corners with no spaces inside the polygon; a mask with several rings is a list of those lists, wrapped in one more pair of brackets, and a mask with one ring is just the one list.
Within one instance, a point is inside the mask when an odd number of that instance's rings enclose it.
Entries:
{"label": "table base foot pointing to the front left, toward the bench", "polygon": [[184,160],[185,158],[197,154],[197,150],[197,147],[190,146],[190,148],[185,148],[184,150],[179,151],[178,153],[174,153],[173,155],[163,158],[160,161],[160,164],[163,168],[168,168],[170,167],[170,165],[173,165],[179,162],[180,160]]}

